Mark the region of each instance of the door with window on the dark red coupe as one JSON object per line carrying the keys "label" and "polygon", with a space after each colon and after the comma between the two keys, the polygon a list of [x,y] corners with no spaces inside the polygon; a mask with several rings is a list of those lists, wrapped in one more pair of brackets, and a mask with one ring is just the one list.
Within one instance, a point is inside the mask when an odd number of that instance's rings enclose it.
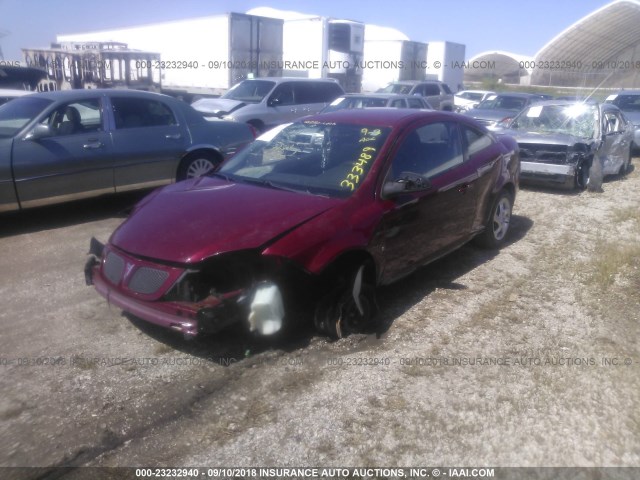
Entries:
{"label": "door with window on the dark red coupe", "polygon": [[378,250],[384,252],[383,283],[466,241],[475,211],[477,172],[464,162],[457,122],[412,128],[392,155],[385,182],[422,178],[429,186],[390,199],[376,235]]}

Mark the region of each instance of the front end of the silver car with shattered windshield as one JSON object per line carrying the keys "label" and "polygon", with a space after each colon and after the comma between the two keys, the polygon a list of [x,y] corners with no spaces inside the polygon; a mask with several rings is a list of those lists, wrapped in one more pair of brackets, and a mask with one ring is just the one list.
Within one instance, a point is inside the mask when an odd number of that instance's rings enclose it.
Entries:
{"label": "front end of the silver car with shattered windshield", "polygon": [[527,183],[584,188],[594,152],[586,143],[520,143],[521,179]]}

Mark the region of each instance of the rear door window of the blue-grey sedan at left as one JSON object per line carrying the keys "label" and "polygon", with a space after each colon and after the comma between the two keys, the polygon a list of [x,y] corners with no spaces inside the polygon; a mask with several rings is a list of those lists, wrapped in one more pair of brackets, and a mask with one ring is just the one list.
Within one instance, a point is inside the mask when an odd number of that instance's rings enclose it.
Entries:
{"label": "rear door window of the blue-grey sedan at left", "polygon": [[113,97],[111,99],[116,129],[177,125],[171,109],[158,100]]}

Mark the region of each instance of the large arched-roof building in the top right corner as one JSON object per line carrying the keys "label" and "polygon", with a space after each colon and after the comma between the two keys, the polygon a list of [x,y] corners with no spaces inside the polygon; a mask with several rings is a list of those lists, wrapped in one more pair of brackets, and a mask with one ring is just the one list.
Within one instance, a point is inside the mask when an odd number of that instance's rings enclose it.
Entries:
{"label": "large arched-roof building in the top right corner", "polygon": [[561,32],[535,56],[532,85],[640,87],[640,2],[617,0]]}

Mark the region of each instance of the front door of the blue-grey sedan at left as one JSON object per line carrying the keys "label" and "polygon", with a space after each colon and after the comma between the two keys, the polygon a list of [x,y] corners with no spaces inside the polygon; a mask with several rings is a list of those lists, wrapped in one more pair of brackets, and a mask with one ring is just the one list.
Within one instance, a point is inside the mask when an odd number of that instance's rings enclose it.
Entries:
{"label": "front door of the blue-grey sedan at left", "polygon": [[57,103],[35,130],[15,139],[13,172],[22,207],[114,191],[103,107],[101,95]]}

